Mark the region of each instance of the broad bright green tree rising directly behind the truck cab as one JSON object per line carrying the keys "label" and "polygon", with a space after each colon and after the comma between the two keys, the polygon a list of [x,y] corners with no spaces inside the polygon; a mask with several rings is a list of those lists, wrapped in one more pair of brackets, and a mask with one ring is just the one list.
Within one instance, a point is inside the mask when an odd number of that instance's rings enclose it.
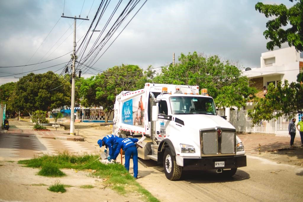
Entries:
{"label": "broad bright green tree rising directly behind the truck cab", "polygon": [[175,65],[162,67],[161,74],[155,76],[154,83],[198,85],[207,88],[216,106],[238,108],[255,98],[255,88],[249,87],[248,78],[230,61],[221,61],[218,55],[207,57],[197,52],[178,58]]}

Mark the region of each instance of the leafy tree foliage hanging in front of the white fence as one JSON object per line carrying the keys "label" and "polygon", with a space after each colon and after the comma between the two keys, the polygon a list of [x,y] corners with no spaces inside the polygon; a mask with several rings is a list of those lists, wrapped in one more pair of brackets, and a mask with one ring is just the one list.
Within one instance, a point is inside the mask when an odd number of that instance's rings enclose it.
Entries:
{"label": "leafy tree foliage hanging in front of the white fence", "polygon": [[271,120],[283,116],[286,119],[294,118],[303,110],[303,85],[300,84],[302,73],[298,75],[298,82],[288,83],[287,80],[277,83],[277,88],[271,83],[265,98],[259,99],[253,110],[248,111],[253,124],[264,120]]}

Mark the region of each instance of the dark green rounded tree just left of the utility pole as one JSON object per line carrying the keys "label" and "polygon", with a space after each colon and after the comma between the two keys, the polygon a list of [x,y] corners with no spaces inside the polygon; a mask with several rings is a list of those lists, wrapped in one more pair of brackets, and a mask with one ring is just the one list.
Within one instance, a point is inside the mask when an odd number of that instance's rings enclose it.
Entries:
{"label": "dark green rounded tree just left of the utility pole", "polygon": [[32,111],[51,111],[70,103],[70,85],[52,71],[44,74],[30,73],[20,79],[15,87],[13,107],[31,114]]}

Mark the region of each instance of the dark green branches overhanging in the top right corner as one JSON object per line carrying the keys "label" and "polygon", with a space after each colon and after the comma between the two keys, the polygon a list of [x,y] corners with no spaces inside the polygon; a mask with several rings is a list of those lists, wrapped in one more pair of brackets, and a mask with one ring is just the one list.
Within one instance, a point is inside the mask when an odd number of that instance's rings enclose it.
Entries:
{"label": "dark green branches overhanging in the top right corner", "polygon": [[[290,0],[290,2],[293,2],[293,0]],[[288,45],[295,46],[297,51],[303,51],[302,0],[298,0],[289,9],[283,4],[268,5],[261,2],[255,5],[255,9],[263,13],[266,18],[276,17],[266,23],[267,30],[263,32],[265,38],[271,40],[266,44],[268,50],[273,50],[275,46],[281,48],[281,44],[288,42]]]}

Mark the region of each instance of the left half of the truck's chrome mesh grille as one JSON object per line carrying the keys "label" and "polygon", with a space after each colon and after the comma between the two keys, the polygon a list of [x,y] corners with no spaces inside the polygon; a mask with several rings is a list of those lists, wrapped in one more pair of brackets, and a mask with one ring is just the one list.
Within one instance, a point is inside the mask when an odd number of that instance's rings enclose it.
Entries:
{"label": "left half of the truck's chrome mesh grille", "polygon": [[203,154],[218,154],[217,132],[202,134]]}

